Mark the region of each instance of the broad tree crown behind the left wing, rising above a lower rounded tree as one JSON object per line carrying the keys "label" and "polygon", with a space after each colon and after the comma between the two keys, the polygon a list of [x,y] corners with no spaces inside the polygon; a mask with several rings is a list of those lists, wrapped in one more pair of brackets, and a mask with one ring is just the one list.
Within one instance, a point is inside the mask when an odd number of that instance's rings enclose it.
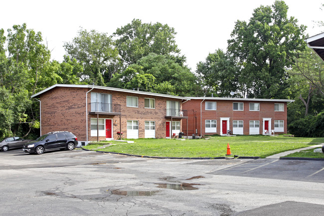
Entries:
{"label": "broad tree crown behind the left wing, rising above a lower rounded tree", "polygon": [[149,53],[165,55],[183,65],[184,56],[179,56],[180,49],[175,44],[175,30],[167,24],[142,23],[133,19],[113,34],[121,59],[126,65],[134,64]]}

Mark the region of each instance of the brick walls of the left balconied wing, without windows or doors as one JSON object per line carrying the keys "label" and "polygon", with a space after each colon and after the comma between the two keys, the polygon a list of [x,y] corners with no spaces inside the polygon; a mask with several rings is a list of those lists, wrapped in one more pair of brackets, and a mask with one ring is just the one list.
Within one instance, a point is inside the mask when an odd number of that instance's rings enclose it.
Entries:
{"label": "brick walls of the left balconied wing, without windows or doors", "polygon": [[[91,88],[55,87],[40,96],[41,100],[41,127],[42,134],[51,131],[70,131],[74,133],[79,141],[86,141],[86,92]],[[91,92],[112,95],[112,103],[121,105],[122,132],[127,137],[127,120],[139,121],[139,138],[145,137],[145,121],[156,122],[156,138],[165,138],[166,101],[179,101],[180,99],[140,95],[136,93],[110,91],[104,89],[93,89]],[[88,112],[91,111],[91,92],[88,93]],[[126,106],[126,96],[138,97],[138,108]],[[144,99],[155,99],[155,109],[144,107]],[[180,107],[181,109],[181,107]],[[88,141],[96,141],[97,136],[91,137],[91,118],[97,115],[88,115]],[[99,118],[112,119],[114,139],[120,131],[120,116],[99,115]],[[180,121],[180,119],[173,119]],[[181,124],[180,124],[181,125]],[[104,140],[106,137],[99,137]]]}

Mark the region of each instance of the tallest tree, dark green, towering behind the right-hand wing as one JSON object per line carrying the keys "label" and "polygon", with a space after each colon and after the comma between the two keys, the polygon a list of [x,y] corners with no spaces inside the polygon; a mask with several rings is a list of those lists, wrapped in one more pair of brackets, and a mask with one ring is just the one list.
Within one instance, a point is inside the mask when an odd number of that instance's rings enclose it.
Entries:
{"label": "tallest tree, dark green, towering behind the right-hand wing", "polygon": [[249,97],[285,98],[290,51],[305,49],[306,29],[294,17],[288,18],[287,11],[285,2],[276,0],[272,6],[256,8],[248,23],[235,23],[228,52],[241,67],[238,82]]}

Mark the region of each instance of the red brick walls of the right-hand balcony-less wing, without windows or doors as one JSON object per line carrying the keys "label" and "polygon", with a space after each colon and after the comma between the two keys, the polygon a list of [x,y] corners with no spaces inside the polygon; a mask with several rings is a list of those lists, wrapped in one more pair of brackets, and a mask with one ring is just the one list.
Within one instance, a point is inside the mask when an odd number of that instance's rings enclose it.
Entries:
{"label": "red brick walls of the right-hand balcony-less wing, without windows or doors", "polygon": [[[205,110],[206,101],[216,101],[216,110]],[[201,99],[191,99],[182,104],[182,109],[188,110],[188,131],[189,135],[197,128],[197,135],[200,135],[200,103]],[[233,102],[243,102],[243,111],[233,111]],[[260,103],[260,111],[249,111],[250,103]],[[284,112],[275,112],[275,103],[284,104]],[[201,103],[202,114],[202,135],[212,135],[215,133],[205,133],[205,120],[216,120],[217,134],[221,132],[220,118],[230,118],[229,129],[233,131],[233,120],[243,120],[243,133],[249,134],[249,121],[260,121],[260,134],[263,132],[263,118],[271,118],[271,129],[274,129],[275,120],[284,120],[284,132],[287,133],[287,102],[273,101],[233,101],[233,100],[204,100]],[[196,118],[195,118],[196,117]],[[186,121],[182,121],[183,130],[186,129]],[[277,134],[278,134],[277,133]]]}

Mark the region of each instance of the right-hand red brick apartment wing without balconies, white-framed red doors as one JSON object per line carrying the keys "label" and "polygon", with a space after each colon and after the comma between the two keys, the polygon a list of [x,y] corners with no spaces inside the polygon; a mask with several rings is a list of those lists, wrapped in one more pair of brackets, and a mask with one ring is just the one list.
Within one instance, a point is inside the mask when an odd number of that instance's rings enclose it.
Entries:
{"label": "right-hand red brick apartment wing without balconies, white-framed red doors", "polygon": [[189,97],[188,135],[271,135],[287,133],[287,103],[294,100]]}

